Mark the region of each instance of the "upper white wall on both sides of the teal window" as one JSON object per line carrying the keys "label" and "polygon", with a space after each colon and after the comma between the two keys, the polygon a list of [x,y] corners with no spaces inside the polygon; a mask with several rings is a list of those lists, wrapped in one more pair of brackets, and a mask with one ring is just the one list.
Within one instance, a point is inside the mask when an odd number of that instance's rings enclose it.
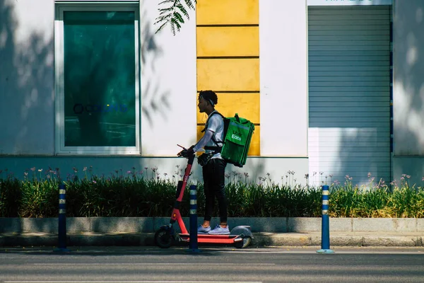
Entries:
{"label": "upper white wall on both sides of the teal window", "polygon": [[[0,9],[0,154],[52,155],[54,0],[0,0]],[[155,34],[156,16],[158,4],[141,1],[141,147],[173,156],[196,139],[196,18],[173,36]]]}

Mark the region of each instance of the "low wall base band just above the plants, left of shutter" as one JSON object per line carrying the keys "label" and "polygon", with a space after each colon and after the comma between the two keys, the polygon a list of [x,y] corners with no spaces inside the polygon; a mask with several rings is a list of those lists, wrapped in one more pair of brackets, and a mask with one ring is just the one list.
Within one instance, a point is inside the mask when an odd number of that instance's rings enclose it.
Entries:
{"label": "low wall base band just above the plants, left of shutter", "polygon": [[[201,176],[201,167],[194,161],[192,168],[193,175],[190,180],[203,180]],[[73,168],[78,169],[78,176],[83,178],[85,172],[83,168],[93,166],[92,174],[101,176],[110,176],[111,173],[117,175],[115,171],[119,171],[128,175],[127,171],[132,171],[133,167],[136,171],[143,171],[143,175],[151,178],[152,168],[158,168],[157,172],[160,173],[160,178],[170,178],[172,175],[179,180],[179,175],[175,173],[181,169],[185,169],[187,165],[187,159],[185,158],[171,158],[171,157],[139,157],[139,156],[68,156],[68,157],[57,157],[57,156],[1,156],[0,157],[0,178],[6,177],[6,174],[13,173],[16,177],[23,179],[25,170],[29,168],[36,168],[35,173],[37,176],[45,176],[48,168],[60,168],[62,178],[67,178],[68,175],[74,175]],[[177,168],[179,166],[179,168]],[[5,169],[8,169],[6,172]],[[145,168],[148,168],[147,170]],[[252,157],[248,158],[247,164],[243,168],[238,168],[232,165],[228,165],[225,169],[225,173],[231,175],[230,180],[233,180],[234,173],[240,173],[242,176],[241,180],[245,180],[245,173],[249,174],[247,180],[249,182],[259,183],[259,177],[267,178],[267,182],[271,180],[274,183],[285,183],[286,180],[294,182],[296,179],[297,183],[305,183],[304,171],[307,168],[306,158],[261,158]],[[39,173],[38,170],[42,172]],[[288,171],[294,171],[295,175],[288,175]],[[88,172],[87,172],[88,173]],[[166,173],[166,175],[165,175]],[[33,173],[29,171],[29,174]],[[269,174],[269,175],[267,175]],[[288,176],[286,178],[285,176]],[[271,179],[271,180],[270,180]],[[312,182],[313,180],[311,180]],[[312,185],[312,183],[310,184]],[[319,184],[319,180],[315,180],[314,184]]]}

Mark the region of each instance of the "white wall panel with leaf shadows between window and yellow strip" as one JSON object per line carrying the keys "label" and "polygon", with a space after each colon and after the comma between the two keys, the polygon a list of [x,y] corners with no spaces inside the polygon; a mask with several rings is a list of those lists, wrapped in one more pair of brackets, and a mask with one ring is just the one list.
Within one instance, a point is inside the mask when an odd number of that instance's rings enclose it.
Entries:
{"label": "white wall panel with leaf shadows between window and yellow strip", "polygon": [[155,34],[158,2],[140,3],[141,154],[175,156],[196,142],[196,13]]}

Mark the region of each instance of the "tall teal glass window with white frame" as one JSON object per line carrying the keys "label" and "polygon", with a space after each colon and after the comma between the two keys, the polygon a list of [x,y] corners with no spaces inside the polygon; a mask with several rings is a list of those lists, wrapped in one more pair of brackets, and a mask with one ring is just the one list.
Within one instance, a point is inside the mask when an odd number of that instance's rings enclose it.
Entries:
{"label": "tall teal glass window with white frame", "polygon": [[139,10],[57,6],[57,153],[139,154]]}

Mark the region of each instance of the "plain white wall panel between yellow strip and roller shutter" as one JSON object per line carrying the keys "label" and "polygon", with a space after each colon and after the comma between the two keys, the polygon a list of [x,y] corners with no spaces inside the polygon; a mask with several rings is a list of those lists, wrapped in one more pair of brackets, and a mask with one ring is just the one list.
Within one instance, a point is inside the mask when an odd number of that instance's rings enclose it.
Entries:
{"label": "plain white wall panel between yellow strip and roller shutter", "polygon": [[305,1],[259,1],[261,156],[307,156]]}

